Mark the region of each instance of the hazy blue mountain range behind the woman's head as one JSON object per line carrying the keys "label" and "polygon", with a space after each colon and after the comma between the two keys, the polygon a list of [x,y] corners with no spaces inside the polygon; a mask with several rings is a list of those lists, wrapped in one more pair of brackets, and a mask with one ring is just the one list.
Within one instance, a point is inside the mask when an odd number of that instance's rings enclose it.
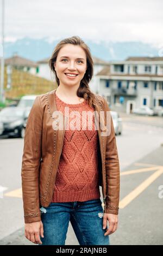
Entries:
{"label": "hazy blue mountain range behind the woman's head", "polygon": [[[12,57],[15,53],[21,57],[38,61],[49,58],[54,47],[61,39],[51,40],[50,38],[34,39],[24,37],[14,42],[5,42],[4,58]],[[141,41],[131,42],[106,42],[104,40],[84,40],[89,46],[92,56],[105,61],[124,60],[130,56],[159,57],[159,49],[151,44]]]}

